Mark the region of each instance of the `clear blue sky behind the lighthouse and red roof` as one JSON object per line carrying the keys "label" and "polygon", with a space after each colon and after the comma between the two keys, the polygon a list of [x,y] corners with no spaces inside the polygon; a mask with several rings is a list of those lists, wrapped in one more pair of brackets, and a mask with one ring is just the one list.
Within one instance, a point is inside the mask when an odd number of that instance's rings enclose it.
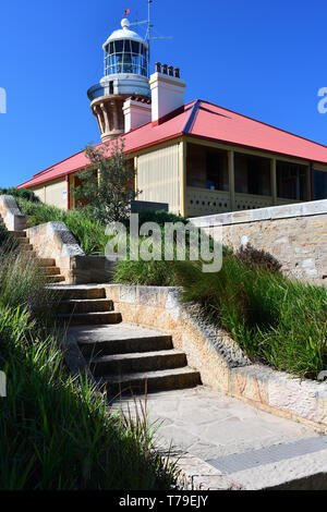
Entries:
{"label": "clear blue sky behind the lighthouse and red roof", "polygon": [[[154,0],[160,35],[153,62],[181,68],[186,100],[206,99],[327,145],[324,1]],[[87,88],[102,76],[101,45],[146,0],[10,0],[1,2],[0,186],[99,142]],[[144,28],[138,28],[144,34]]]}

